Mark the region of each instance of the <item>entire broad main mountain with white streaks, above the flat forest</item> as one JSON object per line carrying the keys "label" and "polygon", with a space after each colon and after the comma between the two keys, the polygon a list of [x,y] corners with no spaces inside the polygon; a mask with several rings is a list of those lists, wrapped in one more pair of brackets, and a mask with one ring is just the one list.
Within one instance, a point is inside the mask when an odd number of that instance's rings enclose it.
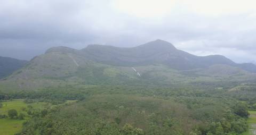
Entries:
{"label": "entire broad main mountain with white streaks, above the flat forest", "polygon": [[225,56],[195,56],[163,40],[121,48],[53,47],[0,81],[0,91],[65,85],[207,85],[256,80],[256,66]]}

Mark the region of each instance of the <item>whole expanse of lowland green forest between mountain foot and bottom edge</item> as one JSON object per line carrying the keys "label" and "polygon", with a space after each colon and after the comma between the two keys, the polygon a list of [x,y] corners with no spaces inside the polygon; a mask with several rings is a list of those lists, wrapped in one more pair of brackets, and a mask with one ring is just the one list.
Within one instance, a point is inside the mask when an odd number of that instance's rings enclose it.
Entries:
{"label": "whole expanse of lowland green forest between mountain foot and bottom edge", "polygon": [[21,134],[240,134],[247,130],[246,104],[228,93],[193,87],[65,86],[7,96],[26,97],[30,104],[78,100],[42,109]]}

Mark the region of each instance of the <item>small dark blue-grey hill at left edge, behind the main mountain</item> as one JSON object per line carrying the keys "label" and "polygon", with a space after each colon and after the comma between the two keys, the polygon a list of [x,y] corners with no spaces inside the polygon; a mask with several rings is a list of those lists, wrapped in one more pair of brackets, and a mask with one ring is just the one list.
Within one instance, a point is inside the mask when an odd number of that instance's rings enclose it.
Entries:
{"label": "small dark blue-grey hill at left edge, behind the main mountain", "polygon": [[0,79],[23,67],[27,61],[0,56]]}

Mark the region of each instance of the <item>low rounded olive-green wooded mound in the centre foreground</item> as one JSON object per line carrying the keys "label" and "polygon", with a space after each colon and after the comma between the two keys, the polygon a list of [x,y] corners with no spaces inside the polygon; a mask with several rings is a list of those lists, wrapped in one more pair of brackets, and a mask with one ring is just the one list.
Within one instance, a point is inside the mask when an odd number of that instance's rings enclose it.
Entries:
{"label": "low rounded olive-green wooded mound in the centre foreground", "polygon": [[[193,123],[188,112],[186,107],[170,100],[99,95],[51,112],[47,117],[34,117],[25,124],[23,132],[33,129],[41,133],[50,130],[55,134],[150,134],[163,130],[159,133],[186,134]],[[185,125],[186,130],[183,128]]]}

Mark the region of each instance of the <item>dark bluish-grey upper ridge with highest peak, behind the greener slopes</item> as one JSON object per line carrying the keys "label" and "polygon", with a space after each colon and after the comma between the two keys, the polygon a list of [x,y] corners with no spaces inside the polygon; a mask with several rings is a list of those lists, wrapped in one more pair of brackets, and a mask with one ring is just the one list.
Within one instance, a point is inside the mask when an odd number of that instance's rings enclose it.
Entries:
{"label": "dark bluish-grey upper ridge with highest peak, behind the greener slopes", "polygon": [[225,64],[240,67],[246,71],[256,72],[256,66],[252,63],[236,64],[221,55],[195,56],[175,48],[171,43],[159,39],[131,48],[89,45],[82,50],[68,47],[53,47],[46,51],[46,53],[51,52],[73,53],[99,63],[116,66],[158,63],[177,70],[189,70],[205,68],[214,64]]}

